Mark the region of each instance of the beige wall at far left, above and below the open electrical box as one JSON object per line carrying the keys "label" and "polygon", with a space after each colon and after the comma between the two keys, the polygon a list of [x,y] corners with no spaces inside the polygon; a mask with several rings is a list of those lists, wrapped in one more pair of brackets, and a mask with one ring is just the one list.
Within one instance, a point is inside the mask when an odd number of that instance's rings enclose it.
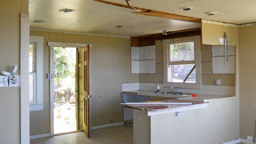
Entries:
{"label": "beige wall at far left, above and below the open electrical box", "polygon": [[[20,12],[28,13],[28,0],[0,3],[0,70],[11,71],[20,66]],[[0,96],[0,143],[20,143],[20,88],[0,87]]]}

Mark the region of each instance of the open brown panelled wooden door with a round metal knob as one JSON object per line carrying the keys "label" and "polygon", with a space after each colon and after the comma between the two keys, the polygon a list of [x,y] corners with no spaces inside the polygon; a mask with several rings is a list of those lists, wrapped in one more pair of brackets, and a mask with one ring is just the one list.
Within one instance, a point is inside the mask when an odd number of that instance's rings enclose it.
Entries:
{"label": "open brown panelled wooden door with a round metal knob", "polygon": [[90,137],[90,77],[89,77],[89,60],[90,60],[90,45],[86,45],[84,47],[84,52],[83,52],[83,71],[84,71],[84,76],[83,76],[83,81],[84,81],[84,109],[83,109],[83,113],[84,113],[84,133],[87,135],[87,137]]}

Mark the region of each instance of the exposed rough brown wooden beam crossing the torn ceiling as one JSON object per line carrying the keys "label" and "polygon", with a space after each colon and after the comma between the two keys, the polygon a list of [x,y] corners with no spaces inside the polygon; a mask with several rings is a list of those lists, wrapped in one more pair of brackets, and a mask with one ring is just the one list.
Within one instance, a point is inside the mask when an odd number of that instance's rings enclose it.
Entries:
{"label": "exposed rough brown wooden beam crossing the torn ceiling", "polygon": [[167,12],[160,12],[160,11],[155,11],[155,10],[149,10],[149,9],[144,9],[136,6],[130,6],[128,3],[128,0],[125,0],[127,5],[125,4],[118,4],[118,3],[113,3],[113,2],[108,2],[108,1],[103,1],[103,0],[93,0],[105,4],[111,4],[115,6],[120,6],[124,8],[129,8],[129,9],[140,9],[140,12],[132,12],[136,14],[141,14],[141,15],[147,15],[147,16],[153,16],[153,17],[160,17],[160,18],[166,18],[166,19],[172,19],[172,20],[181,20],[181,21],[187,21],[187,22],[195,22],[195,23],[201,23],[201,19],[198,18],[193,18],[193,17],[188,17],[188,16],[182,16],[178,14],[172,14],[172,13],[167,13]]}

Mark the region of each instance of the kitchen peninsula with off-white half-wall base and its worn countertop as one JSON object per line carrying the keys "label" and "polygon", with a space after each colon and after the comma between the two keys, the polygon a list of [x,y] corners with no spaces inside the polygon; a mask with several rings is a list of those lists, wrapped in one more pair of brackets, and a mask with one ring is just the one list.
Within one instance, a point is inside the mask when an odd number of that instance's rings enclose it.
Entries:
{"label": "kitchen peninsula with off-white half-wall base and its worn countertop", "polygon": [[[133,109],[133,143],[222,143],[223,140],[236,139],[232,132],[236,127],[226,127],[235,123],[238,116],[233,113],[237,97],[216,95],[170,96],[153,91],[123,91],[126,95],[170,97],[161,100],[173,103],[192,103],[190,105],[125,104]],[[175,98],[175,99],[173,99]],[[141,101],[140,101],[141,102]],[[182,116],[177,116],[182,111]],[[207,133],[207,134],[206,134]]]}

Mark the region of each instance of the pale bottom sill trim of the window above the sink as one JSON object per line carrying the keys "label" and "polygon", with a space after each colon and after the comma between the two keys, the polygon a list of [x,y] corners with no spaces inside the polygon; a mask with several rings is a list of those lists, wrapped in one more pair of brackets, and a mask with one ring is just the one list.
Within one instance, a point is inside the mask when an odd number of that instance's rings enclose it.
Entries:
{"label": "pale bottom sill trim of the window above the sink", "polygon": [[175,82],[164,82],[164,87],[175,87],[186,88],[186,89],[201,89],[201,83],[175,83]]}

